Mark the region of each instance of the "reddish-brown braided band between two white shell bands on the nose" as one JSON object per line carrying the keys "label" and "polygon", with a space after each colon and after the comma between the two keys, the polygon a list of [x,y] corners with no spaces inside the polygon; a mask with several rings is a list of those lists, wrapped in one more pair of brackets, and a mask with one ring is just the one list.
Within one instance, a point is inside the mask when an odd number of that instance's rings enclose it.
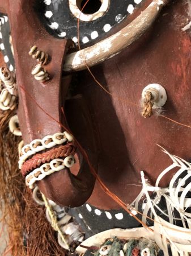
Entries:
{"label": "reddish-brown braided band between two white shell bands on the nose", "polygon": [[69,155],[74,155],[76,147],[72,142],[66,145],[61,145],[60,147],[54,147],[42,154],[36,154],[31,159],[27,160],[22,166],[22,175],[26,176],[27,172],[36,169],[41,164],[48,163],[50,160],[60,157],[66,157]]}

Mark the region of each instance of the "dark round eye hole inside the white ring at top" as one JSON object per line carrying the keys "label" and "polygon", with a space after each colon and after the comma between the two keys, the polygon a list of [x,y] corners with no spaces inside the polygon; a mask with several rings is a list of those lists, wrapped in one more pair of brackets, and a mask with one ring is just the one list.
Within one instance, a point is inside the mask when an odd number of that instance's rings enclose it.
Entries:
{"label": "dark round eye hole inside the white ring at top", "polygon": [[[83,6],[86,4],[87,0],[77,0],[77,6],[79,10],[81,11]],[[96,11],[98,11],[101,7],[101,1],[100,0],[89,0],[86,6],[84,7],[82,13],[84,14],[94,14]]]}

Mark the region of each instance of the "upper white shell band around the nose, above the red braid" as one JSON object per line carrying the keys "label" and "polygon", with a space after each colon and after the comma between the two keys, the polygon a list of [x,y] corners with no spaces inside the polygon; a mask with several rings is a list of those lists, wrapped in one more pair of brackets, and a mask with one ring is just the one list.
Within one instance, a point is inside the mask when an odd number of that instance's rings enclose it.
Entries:
{"label": "upper white shell band around the nose, above the red braid", "polygon": [[[51,139],[51,141],[49,143],[46,143],[48,139]],[[36,152],[43,151],[46,148],[51,148],[56,145],[63,144],[65,142],[71,142],[73,141],[73,139],[74,139],[73,136],[69,134],[67,131],[64,131],[63,133],[55,133],[53,135],[47,135],[43,139],[34,139],[31,143],[26,144],[24,147],[22,147],[22,150],[21,150],[22,155],[19,157],[19,169],[22,168],[23,163],[28,159],[28,157],[31,155],[35,155]],[[34,147],[33,145],[37,142],[39,142],[40,145],[37,147]]]}

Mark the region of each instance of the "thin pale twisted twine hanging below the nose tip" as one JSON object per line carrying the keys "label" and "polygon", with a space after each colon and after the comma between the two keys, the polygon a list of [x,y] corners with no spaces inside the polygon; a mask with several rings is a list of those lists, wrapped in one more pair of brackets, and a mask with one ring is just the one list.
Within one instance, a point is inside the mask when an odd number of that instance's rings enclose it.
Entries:
{"label": "thin pale twisted twine hanging below the nose tip", "polygon": [[63,232],[61,231],[59,225],[58,225],[58,221],[56,218],[56,214],[54,213],[54,211],[52,210],[51,205],[48,203],[48,200],[46,199],[45,195],[43,195],[43,193],[41,193],[42,197],[43,197],[43,201],[45,203],[45,207],[46,209],[48,209],[48,213],[52,222],[52,227],[54,230],[56,230],[58,232],[58,234],[60,234],[60,237],[62,239],[62,242],[65,243],[67,250],[69,250],[69,244],[66,241],[66,237],[63,234]]}

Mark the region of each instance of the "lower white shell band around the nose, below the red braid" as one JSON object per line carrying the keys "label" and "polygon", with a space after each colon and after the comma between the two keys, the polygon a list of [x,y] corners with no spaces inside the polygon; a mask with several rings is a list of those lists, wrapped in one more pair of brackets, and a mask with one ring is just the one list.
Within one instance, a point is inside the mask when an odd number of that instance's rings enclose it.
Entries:
{"label": "lower white shell band around the nose, below the red braid", "polygon": [[[68,158],[72,159],[70,164],[70,167],[73,166],[73,164],[75,163],[75,159],[73,155],[67,156]],[[42,166],[40,166],[39,168],[36,168],[35,170],[33,170],[32,172],[30,172],[27,176],[26,176],[26,185],[29,188],[34,188],[34,184],[36,183],[36,181],[39,180],[43,180],[44,177],[53,174],[53,172],[56,171],[61,171],[63,170],[65,167],[64,164],[64,160],[61,158],[56,158],[53,159],[52,161],[50,161],[50,163],[45,163]],[[48,168],[48,170],[47,170]],[[47,171],[45,171],[47,170]],[[35,175],[40,172],[40,174],[36,177]],[[31,178],[29,181],[27,181],[27,179]]]}

